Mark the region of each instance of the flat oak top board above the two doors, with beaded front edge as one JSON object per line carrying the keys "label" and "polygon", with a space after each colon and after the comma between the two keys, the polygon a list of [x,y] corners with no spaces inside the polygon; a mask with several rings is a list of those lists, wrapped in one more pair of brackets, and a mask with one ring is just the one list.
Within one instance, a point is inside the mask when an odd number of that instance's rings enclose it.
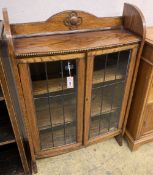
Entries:
{"label": "flat oak top board above the two doors, with beaded front edge", "polygon": [[[48,35],[14,38],[14,48],[17,56],[47,54],[48,52],[64,53],[74,50],[86,51],[96,48],[110,48],[138,43],[140,38],[123,29],[73,33],[64,35]],[[42,47],[43,45],[43,47]]]}

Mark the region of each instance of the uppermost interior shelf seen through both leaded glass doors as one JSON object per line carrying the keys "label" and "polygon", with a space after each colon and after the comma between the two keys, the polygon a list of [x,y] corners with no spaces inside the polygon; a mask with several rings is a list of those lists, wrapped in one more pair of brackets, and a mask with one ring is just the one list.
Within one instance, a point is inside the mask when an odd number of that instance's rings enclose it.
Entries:
{"label": "uppermost interior shelf seen through both leaded glass doors", "polygon": [[[103,83],[104,82],[103,74],[104,74],[104,70],[94,71],[93,84]],[[116,78],[117,78],[117,80],[122,79],[123,75],[120,72],[117,72]],[[105,81],[107,82],[107,81],[112,81],[112,80],[115,80],[115,74],[114,74],[114,72],[111,71],[111,68],[110,68],[110,69],[107,69]],[[63,83],[63,90],[67,90],[66,78],[64,78],[63,82],[64,82]],[[48,81],[48,89],[47,89],[46,80],[33,81],[32,86],[33,86],[34,95],[46,94],[46,93],[48,93],[48,90],[49,90],[49,92],[62,91],[61,78],[49,80]]]}

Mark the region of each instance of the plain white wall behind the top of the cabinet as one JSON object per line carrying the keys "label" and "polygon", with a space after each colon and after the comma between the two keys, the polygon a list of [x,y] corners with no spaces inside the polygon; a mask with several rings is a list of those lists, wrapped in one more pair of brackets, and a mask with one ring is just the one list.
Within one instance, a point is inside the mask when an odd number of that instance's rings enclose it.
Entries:
{"label": "plain white wall behind the top of the cabinet", "polygon": [[146,24],[153,26],[153,0],[0,0],[9,12],[10,22],[42,21],[63,10],[84,10],[96,16],[122,15],[124,2],[137,5],[143,12]]}

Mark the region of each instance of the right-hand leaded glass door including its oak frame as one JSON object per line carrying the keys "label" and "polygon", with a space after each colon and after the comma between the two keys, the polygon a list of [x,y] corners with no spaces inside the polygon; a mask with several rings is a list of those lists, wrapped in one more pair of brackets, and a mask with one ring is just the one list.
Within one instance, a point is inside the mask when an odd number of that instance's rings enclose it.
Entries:
{"label": "right-hand leaded glass door including its oak frame", "polygon": [[[131,61],[131,58],[133,59]],[[89,53],[85,95],[84,142],[115,136],[120,133],[127,103],[136,49],[114,53]],[[130,65],[132,67],[130,68]],[[130,69],[130,71],[129,71]],[[125,93],[125,88],[126,93]],[[124,106],[124,111],[123,111]]]}

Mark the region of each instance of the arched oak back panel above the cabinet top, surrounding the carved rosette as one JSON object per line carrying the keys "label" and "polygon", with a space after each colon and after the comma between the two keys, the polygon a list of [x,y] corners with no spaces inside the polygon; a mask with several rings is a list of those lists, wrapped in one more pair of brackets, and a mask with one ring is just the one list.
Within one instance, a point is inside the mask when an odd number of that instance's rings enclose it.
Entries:
{"label": "arched oak back panel above the cabinet top, surrounding the carved rosette", "polygon": [[14,35],[29,35],[45,32],[68,31],[69,27],[64,24],[64,20],[75,12],[78,17],[82,18],[81,25],[75,30],[95,29],[105,27],[120,27],[122,25],[121,17],[104,17],[98,18],[88,12],[78,10],[67,10],[49,17],[46,21],[12,24],[11,31]]}

